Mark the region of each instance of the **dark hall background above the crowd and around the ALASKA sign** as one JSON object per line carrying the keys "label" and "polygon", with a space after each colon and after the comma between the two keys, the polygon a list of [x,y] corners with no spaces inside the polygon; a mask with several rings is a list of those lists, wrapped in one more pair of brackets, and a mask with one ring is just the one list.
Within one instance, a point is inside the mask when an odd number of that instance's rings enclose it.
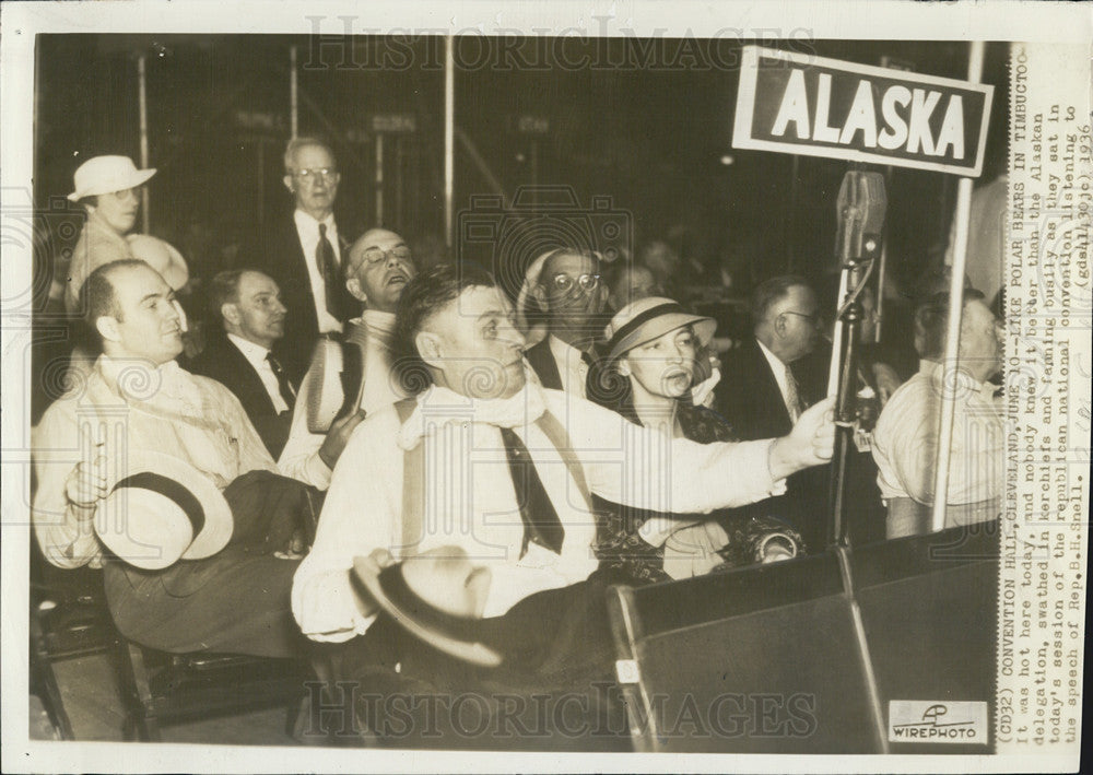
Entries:
{"label": "dark hall background above the crowd and around the ALASKA sign", "polygon": [[[290,207],[281,177],[293,44],[299,133],[322,134],[333,145],[343,230],[376,223],[373,114],[409,114],[416,131],[385,140],[384,221],[421,249],[443,253],[438,37],[42,35],[37,207],[71,191],[73,171],[93,155],[121,153],[139,163],[137,56],[143,52],[150,164],[158,168],[150,183],[150,231],[179,247],[198,277],[221,268],[234,245]],[[967,72],[964,43],[777,45],[935,75]],[[506,202],[530,184],[569,186],[579,208],[609,198],[628,213],[631,251],[670,236],[706,266],[736,251],[759,277],[819,275],[832,263],[835,196],[848,165],[731,149],[739,48],[729,39],[459,38],[456,211],[466,216],[471,197],[496,192],[485,167]],[[992,164],[1004,164],[1007,54],[1004,44],[987,46],[984,80],[996,86],[996,109],[984,179]],[[545,132],[521,132],[527,116],[545,120]],[[722,163],[726,155],[732,164]],[[891,175],[889,272],[907,284],[940,261],[956,178],[901,168]],[[52,207],[67,206],[54,199]]]}

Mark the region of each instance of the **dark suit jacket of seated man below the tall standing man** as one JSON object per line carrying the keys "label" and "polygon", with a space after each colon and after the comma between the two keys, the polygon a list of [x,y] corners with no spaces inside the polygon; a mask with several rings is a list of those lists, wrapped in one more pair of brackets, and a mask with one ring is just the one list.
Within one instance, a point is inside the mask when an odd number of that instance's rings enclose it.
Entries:
{"label": "dark suit jacket of seated man below the tall standing man", "polygon": [[[211,337],[201,354],[190,362],[189,371],[215,379],[231,390],[273,459],[281,455],[289,441],[292,407],[287,412],[277,413],[258,373],[232,340],[223,333]],[[294,388],[299,387],[297,380],[290,377],[290,381]]]}

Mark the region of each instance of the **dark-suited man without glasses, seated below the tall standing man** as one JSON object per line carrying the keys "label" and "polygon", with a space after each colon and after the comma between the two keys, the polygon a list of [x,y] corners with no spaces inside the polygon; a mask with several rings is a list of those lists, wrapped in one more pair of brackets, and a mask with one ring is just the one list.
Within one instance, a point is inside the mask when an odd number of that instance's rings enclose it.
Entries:
{"label": "dark-suited man without glasses, seated below the tall standing man", "polygon": [[239,399],[270,455],[289,438],[298,383],[271,352],[284,337],[287,309],[281,289],[252,269],[220,272],[210,284],[210,313],[223,333],[212,336],[190,371],[215,379]]}

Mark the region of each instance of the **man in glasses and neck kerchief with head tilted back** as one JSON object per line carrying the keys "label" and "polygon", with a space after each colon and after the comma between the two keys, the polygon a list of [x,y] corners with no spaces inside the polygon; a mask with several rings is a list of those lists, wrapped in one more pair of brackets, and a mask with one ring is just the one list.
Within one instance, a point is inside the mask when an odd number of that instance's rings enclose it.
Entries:
{"label": "man in glasses and neck kerchief with head tilted back", "polygon": [[398,234],[372,228],[353,243],[345,289],[366,308],[346,321],[342,341],[321,340],[316,348],[278,461],[286,477],[326,490],[353,428],[404,398],[391,372],[391,339],[395,307],[414,274],[410,248]]}

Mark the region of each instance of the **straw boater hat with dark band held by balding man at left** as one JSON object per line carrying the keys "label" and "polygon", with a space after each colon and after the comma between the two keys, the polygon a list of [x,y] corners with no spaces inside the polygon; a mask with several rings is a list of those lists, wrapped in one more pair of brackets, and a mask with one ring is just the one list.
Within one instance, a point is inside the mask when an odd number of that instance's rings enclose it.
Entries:
{"label": "straw boater hat with dark band held by balding man at left", "polygon": [[130,565],[158,571],[227,545],[232,509],[212,481],[168,455],[132,458],[95,513],[95,532],[107,549]]}

